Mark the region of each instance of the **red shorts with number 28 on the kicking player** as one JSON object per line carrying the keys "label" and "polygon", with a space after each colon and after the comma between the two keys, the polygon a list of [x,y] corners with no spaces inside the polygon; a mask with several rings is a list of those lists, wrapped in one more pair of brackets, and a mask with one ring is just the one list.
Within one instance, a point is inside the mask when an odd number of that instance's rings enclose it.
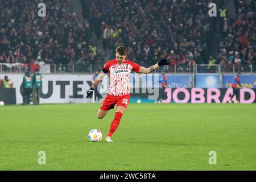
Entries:
{"label": "red shorts with number 28 on the kicking player", "polygon": [[111,96],[108,94],[104,100],[102,101],[101,110],[110,110],[114,109],[115,104],[117,106],[123,106],[127,108],[130,101],[130,94],[126,94],[125,96]]}

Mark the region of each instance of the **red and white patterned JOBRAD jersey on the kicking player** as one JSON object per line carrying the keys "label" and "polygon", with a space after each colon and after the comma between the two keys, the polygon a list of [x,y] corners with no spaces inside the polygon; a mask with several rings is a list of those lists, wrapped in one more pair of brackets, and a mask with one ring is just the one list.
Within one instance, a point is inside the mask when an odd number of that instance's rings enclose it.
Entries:
{"label": "red and white patterned JOBRAD jersey on the kicking player", "polygon": [[139,72],[141,66],[133,61],[125,60],[118,63],[116,59],[108,61],[104,69],[109,71],[109,92],[111,96],[125,96],[130,93],[131,71]]}

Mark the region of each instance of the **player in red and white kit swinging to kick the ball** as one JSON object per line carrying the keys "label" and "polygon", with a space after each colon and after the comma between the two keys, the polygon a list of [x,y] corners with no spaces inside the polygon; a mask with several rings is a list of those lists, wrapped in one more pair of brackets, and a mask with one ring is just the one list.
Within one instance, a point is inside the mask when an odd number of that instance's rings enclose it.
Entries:
{"label": "player in red and white kit swinging to kick the ball", "polygon": [[98,110],[97,117],[102,119],[108,113],[110,109],[114,109],[117,104],[117,110],[115,111],[114,119],[110,125],[108,135],[106,135],[106,142],[113,142],[111,139],[115,130],[119,126],[122,115],[125,112],[130,101],[130,75],[131,71],[137,73],[151,73],[155,69],[158,69],[162,65],[170,64],[170,60],[162,59],[150,68],[144,68],[134,63],[133,61],[126,60],[127,49],[123,46],[119,46],[115,49],[115,59],[108,61],[102,69],[100,75],[93,82],[92,87],[86,90],[87,97],[93,93],[93,90],[102,81],[102,78],[109,72],[110,85],[108,94],[102,101],[102,105]]}

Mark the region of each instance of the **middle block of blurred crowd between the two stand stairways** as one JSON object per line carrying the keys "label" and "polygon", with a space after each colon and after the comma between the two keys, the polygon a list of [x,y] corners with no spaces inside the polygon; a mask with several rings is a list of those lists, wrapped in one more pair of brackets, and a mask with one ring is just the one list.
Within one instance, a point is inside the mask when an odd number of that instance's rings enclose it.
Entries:
{"label": "middle block of blurred crowd between the two stand stairways", "polygon": [[163,57],[173,65],[207,64],[207,1],[81,1],[104,50],[123,44],[128,58],[142,65]]}

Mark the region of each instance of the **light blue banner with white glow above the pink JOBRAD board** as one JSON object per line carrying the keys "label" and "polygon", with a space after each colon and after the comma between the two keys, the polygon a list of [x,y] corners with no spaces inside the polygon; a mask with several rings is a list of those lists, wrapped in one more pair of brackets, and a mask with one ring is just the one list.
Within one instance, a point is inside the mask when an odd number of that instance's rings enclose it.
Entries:
{"label": "light blue banner with white glow above the pink JOBRAD board", "polygon": [[219,88],[220,76],[219,75],[196,75],[196,87],[197,88]]}

